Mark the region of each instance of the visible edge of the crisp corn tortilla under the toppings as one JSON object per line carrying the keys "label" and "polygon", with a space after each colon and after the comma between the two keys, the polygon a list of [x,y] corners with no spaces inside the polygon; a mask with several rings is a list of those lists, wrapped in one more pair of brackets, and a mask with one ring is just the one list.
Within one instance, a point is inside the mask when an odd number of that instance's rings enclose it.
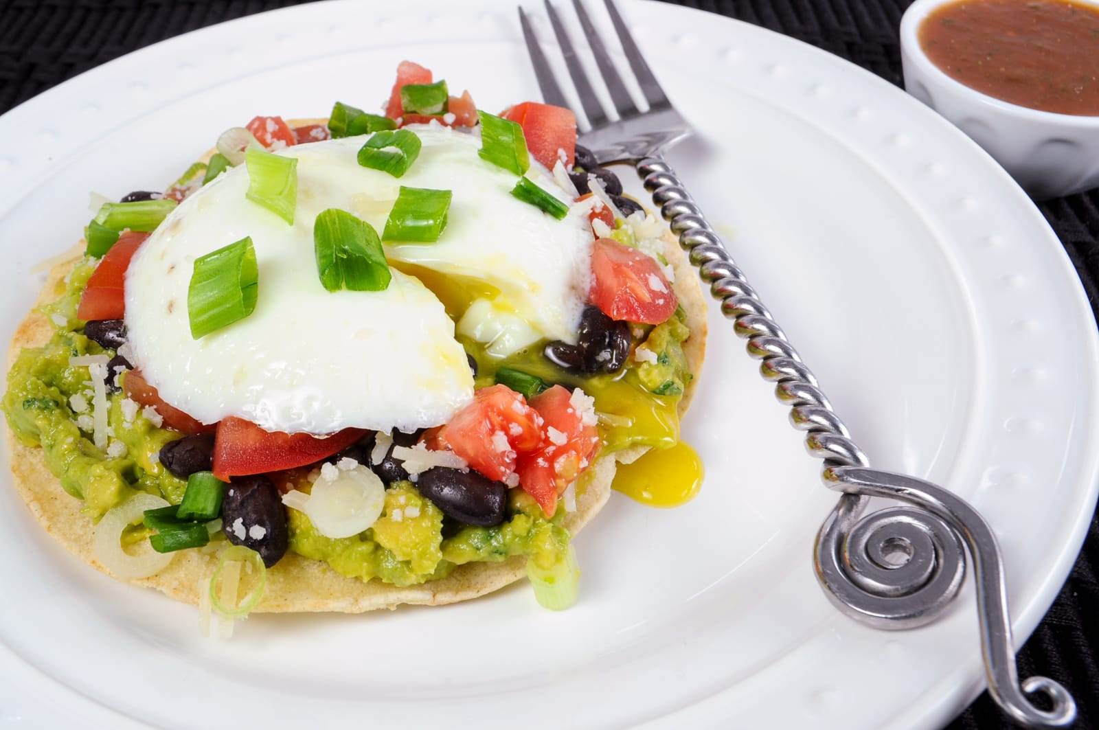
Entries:
{"label": "visible edge of the crisp corn tortilla under the toppings", "polygon": [[[297,120],[291,124],[324,121]],[[687,313],[687,324],[691,332],[684,343],[684,353],[695,379],[680,401],[679,413],[682,416],[702,366],[706,350],[706,301],[698,277],[675,240],[670,233],[665,237],[666,256],[676,275],[674,288]],[[15,330],[9,349],[9,368],[23,347],[42,346],[52,336],[53,328],[37,308],[53,301],[64,291],[64,278],[81,258],[84,248],[85,243],[81,241],[68,256],[57,261],[51,268],[35,308]],[[95,524],[81,511],[84,502],[62,489],[58,479],[46,467],[41,449],[22,444],[10,429],[7,441],[15,489],[34,517],[69,552],[92,567],[110,574],[93,554]],[[570,533],[576,534],[607,502],[617,464],[630,463],[645,451],[644,446],[634,447],[596,460],[578,485],[576,511],[566,516],[565,527]],[[378,608],[391,609],[401,604],[453,604],[482,596],[518,580],[525,575],[525,556],[515,556],[498,563],[469,563],[457,566],[445,578],[418,586],[399,587],[377,579],[363,582],[348,578],[336,573],[326,563],[287,552],[277,565],[267,571],[267,589],[255,610],[358,613]],[[210,553],[199,550],[181,551],[160,573],[131,583],[156,588],[171,598],[197,605],[199,582],[212,573],[215,562],[215,556]]]}

